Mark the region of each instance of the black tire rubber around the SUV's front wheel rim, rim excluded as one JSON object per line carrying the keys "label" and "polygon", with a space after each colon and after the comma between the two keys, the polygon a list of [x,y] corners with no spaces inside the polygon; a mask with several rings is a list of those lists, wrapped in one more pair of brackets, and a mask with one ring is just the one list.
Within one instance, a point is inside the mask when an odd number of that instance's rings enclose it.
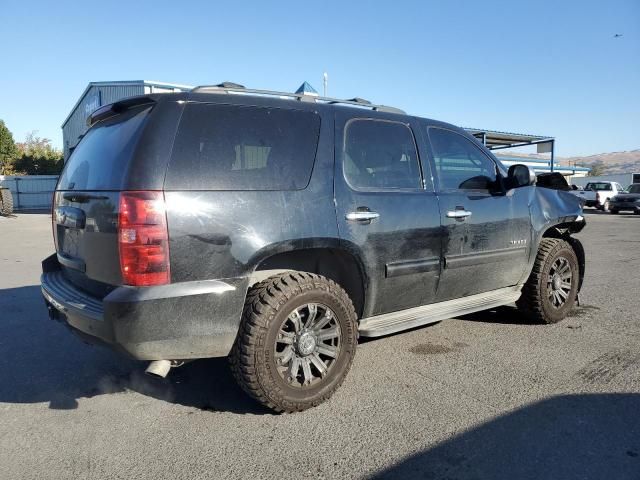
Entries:
{"label": "black tire rubber around the SUV's front wheel rim, rim excluded", "polygon": [[[554,262],[563,257],[571,269],[571,290],[565,303],[556,308],[549,299],[548,276]],[[578,258],[571,244],[559,238],[543,238],[533,270],[516,305],[529,319],[540,323],[557,323],[573,309],[579,284]]]}

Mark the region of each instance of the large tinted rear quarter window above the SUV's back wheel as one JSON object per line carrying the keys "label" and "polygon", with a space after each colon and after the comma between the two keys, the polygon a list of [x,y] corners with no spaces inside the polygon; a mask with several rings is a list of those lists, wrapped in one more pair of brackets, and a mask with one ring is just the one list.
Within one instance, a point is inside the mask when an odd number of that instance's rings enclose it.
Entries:
{"label": "large tinted rear quarter window above the SUV's back wheel", "polygon": [[301,190],[318,147],[314,112],[236,105],[186,106],[168,190]]}

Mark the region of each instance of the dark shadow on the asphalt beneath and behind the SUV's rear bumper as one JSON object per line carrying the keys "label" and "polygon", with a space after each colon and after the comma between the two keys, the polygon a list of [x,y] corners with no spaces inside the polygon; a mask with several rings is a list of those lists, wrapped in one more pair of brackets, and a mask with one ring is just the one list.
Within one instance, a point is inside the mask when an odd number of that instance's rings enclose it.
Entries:
{"label": "dark shadow on the asphalt beneath and behind the SUV's rear bumper", "polygon": [[236,385],[225,358],[187,363],[165,379],[145,368],[50,320],[39,286],[0,290],[0,403],[75,409],[81,398],[133,391],[201,410],[271,413]]}

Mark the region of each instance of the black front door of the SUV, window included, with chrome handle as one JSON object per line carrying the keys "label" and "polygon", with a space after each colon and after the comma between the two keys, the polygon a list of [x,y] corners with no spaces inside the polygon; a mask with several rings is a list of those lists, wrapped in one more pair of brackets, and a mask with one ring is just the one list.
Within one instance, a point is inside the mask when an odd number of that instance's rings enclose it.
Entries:
{"label": "black front door of the SUV, window included, with chrome handle", "polygon": [[432,126],[427,137],[444,232],[437,300],[517,284],[528,263],[533,187],[502,191],[496,162],[459,132]]}

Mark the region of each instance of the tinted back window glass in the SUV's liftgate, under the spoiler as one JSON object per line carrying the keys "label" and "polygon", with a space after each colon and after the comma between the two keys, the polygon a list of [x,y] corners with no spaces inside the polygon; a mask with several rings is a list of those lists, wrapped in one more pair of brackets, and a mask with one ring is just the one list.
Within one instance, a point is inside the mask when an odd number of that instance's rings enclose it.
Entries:
{"label": "tinted back window glass in the SUV's liftgate, under the spoiler", "polygon": [[132,109],[89,129],[69,157],[58,190],[120,190],[150,110]]}

